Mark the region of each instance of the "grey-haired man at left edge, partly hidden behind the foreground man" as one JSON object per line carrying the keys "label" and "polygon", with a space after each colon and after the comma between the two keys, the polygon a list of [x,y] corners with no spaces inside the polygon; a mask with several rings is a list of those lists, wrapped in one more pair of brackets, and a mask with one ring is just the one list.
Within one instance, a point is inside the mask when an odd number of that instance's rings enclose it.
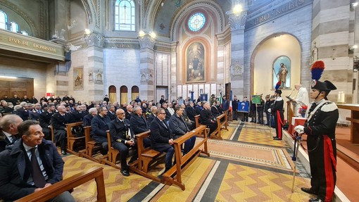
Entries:
{"label": "grey-haired man at left edge, partly hidden behind the foreground man", "polygon": [[5,115],[0,120],[0,151],[4,151],[6,146],[18,140],[18,125],[23,122],[20,116],[15,114]]}

